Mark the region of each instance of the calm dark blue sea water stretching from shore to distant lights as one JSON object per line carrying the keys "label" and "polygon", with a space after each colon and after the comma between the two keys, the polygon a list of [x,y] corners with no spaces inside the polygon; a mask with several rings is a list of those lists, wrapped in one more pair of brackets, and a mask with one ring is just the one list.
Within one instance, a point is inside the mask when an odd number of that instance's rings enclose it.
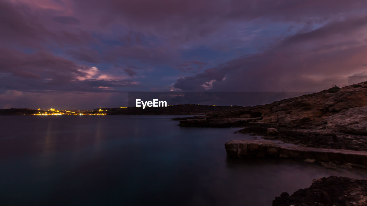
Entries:
{"label": "calm dark blue sea water stretching from shore to distant lights", "polygon": [[0,205],[258,205],[312,179],[366,173],[227,159],[239,128],[172,116],[0,116]]}

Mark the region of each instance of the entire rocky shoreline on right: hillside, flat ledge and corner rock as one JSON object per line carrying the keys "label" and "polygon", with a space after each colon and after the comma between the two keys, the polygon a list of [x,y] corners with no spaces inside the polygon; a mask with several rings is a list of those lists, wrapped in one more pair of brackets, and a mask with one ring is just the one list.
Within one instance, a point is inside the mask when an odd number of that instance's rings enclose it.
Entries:
{"label": "entire rocky shoreline on right: hillside, flat ledge and corner rock", "polygon": [[[179,126],[241,127],[239,133],[280,140],[225,143],[228,157],[294,158],[328,168],[367,166],[367,82],[333,87],[271,104],[243,107],[200,118],[180,118]],[[323,177],[291,196],[283,192],[273,206],[366,206],[367,180]]]}

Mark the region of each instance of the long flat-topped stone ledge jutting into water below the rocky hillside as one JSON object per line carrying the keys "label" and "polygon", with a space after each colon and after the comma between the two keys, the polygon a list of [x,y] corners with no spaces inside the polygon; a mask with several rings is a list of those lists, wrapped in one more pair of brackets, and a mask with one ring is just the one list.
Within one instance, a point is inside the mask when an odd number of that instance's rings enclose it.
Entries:
{"label": "long flat-topped stone ledge jutting into water below the rocky hillside", "polygon": [[367,152],[334,150],[311,147],[282,147],[265,140],[231,140],[225,143],[229,157],[273,157],[304,159],[308,162],[322,162],[328,165],[352,165],[366,168]]}

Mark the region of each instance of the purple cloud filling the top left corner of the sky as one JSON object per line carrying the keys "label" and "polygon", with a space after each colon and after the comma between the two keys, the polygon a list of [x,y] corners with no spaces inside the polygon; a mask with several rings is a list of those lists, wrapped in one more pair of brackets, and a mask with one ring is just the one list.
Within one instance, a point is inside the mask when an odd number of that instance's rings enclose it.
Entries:
{"label": "purple cloud filling the top left corner of the sky", "polygon": [[0,7],[0,43],[3,46],[38,49],[51,45],[85,45],[95,42],[95,39],[83,30],[60,28],[47,23],[48,19],[64,23],[79,21],[74,17],[59,16],[55,20],[55,17],[47,13],[48,10],[34,7],[31,4],[5,0],[0,0]]}

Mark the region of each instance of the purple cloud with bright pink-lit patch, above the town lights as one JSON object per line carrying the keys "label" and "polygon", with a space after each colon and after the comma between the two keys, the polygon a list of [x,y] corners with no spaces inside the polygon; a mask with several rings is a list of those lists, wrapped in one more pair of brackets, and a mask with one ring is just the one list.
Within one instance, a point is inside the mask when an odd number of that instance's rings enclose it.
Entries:
{"label": "purple cloud with bright pink-lit patch, above the town lights", "polygon": [[[68,59],[42,51],[27,54],[0,49],[0,88],[28,92],[104,92],[137,82],[108,78],[97,67],[79,65]],[[102,78],[102,76],[104,76]]]}

